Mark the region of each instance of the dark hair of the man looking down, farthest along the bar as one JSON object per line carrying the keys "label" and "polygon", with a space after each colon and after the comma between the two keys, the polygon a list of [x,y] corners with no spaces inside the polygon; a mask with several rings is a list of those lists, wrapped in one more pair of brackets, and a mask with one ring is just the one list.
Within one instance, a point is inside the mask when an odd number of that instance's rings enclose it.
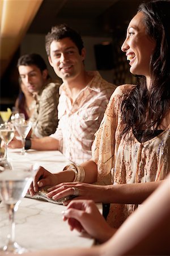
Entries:
{"label": "dark hair of the man looking down, farthest along the bar", "polygon": [[17,67],[21,65],[36,65],[36,67],[39,68],[41,72],[47,69],[44,59],[42,59],[42,57],[37,53],[25,54],[21,56],[18,60]]}

